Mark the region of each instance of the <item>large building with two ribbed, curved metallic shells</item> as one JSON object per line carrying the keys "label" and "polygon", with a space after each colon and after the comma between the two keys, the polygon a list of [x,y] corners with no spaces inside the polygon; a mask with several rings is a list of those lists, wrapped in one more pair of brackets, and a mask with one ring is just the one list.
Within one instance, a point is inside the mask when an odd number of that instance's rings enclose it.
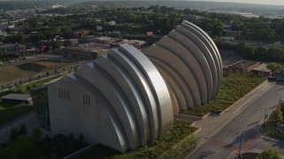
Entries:
{"label": "large building with two ribbed, curved metallic shells", "polygon": [[120,45],[31,95],[44,129],[125,152],[159,139],[179,110],[216,97],[221,79],[214,42],[185,21],[144,54]]}

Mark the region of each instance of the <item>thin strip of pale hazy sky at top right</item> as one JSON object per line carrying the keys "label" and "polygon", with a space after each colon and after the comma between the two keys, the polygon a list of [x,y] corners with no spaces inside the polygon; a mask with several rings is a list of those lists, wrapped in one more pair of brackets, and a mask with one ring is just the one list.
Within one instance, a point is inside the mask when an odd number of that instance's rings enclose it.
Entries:
{"label": "thin strip of pale hazy sky at top right", "polygon": [[248,3],[248,4],[284,5],[284,0],[209,0],[209,1],[233,2],[233,3]]}

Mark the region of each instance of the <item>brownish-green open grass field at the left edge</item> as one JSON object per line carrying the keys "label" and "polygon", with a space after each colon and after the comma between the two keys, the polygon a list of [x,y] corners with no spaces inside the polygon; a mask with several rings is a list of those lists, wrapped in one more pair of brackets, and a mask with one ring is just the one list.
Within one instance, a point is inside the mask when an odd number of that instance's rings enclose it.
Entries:
{"label": "brownish-green open grass field at the left edge", "polygon": [[[50,60],[50,59],[36,59],[25,64],[13,65],[11,67],[6,67],[5,69],[0,69],[0,84],[4,84],[11,81],[12,79],[23,79],[29,76],[54,70],[56,67],[62,67],[73,64],[72,62],[63,61],[61,64],[60,60]],[[33,68],[34,71],[33,72]]]}

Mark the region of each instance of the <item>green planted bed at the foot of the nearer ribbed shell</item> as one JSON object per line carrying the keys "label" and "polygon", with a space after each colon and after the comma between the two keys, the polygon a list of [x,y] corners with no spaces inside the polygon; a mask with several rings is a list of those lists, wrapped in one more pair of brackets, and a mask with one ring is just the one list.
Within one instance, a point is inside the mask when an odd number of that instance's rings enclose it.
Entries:
{"label": "green planted bed at the foot of the nearer ribbed shell", "polygon": [[196,147],[198,140],[191,136],[194,131],[196,128],[192,127],[191,123],[175,120],[169,132],[145,148],[121,154],[114,149],[98,145],[77,158],[157,158],[160,155],[161,158],[177,155],[182,157]]}

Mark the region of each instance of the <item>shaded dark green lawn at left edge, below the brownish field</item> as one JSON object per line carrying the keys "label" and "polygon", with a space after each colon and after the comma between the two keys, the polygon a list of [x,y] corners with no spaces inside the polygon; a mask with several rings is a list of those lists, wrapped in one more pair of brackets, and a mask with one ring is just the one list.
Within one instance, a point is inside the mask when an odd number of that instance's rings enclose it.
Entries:
{"label": "shaded dark green lawn at left edge, below the brownish field", "polygon": [[12,121],[29,111],[34,110],[33,106],[18,102],[0,102],[0,125]]}

